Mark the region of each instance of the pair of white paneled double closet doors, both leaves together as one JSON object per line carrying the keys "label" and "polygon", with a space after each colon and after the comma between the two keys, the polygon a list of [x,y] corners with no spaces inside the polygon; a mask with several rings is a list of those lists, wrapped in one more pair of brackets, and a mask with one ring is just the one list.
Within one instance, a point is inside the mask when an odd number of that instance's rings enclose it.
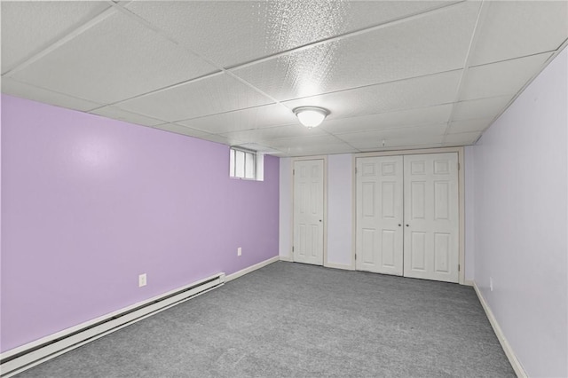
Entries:
{"label": "pair of white paneled double closet doors, both leaves together", "polygon": [[458,156],[357,159],[356,269],[459,280]]}

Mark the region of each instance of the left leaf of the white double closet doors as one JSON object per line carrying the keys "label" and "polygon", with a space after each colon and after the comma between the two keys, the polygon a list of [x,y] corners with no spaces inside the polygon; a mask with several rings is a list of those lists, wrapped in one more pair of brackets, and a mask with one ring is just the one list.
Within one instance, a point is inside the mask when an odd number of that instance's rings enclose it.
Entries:
{"label": "left leaf of the white double closet doors", "polygon": [[402,275],[402,156],[357,159],[357,235],[359,271]]}

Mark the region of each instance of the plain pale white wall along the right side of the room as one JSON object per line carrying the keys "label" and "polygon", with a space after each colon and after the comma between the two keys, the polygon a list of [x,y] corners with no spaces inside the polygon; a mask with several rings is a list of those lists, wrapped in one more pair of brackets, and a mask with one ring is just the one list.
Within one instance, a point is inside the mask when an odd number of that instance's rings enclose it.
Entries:
{"label": "plain pale white wall along the right side of the room", "polygon": [[568,376],[567,71],[564,50],[472,148],[475,282],[535,377]]}

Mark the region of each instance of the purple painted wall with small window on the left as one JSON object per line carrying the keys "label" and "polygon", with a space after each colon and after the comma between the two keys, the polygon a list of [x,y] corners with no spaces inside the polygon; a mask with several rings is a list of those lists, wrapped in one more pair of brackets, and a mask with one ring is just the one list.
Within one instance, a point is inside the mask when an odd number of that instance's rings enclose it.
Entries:
{"label": "purple painted wall with small window on the left", "polygon": [[2,110],[1,350],[278,255],[278,158],[236,180],[224,145],[4,95]]}

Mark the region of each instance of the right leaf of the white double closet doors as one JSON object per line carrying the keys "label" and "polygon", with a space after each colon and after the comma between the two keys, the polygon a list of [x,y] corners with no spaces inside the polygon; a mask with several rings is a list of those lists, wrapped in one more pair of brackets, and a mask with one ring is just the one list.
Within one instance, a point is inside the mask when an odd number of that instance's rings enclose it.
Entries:
{"label": "right leaf of the white double closet doors", "polygon": [[404,275],[458,282],[458,155],[406,155],[404,171]]}

